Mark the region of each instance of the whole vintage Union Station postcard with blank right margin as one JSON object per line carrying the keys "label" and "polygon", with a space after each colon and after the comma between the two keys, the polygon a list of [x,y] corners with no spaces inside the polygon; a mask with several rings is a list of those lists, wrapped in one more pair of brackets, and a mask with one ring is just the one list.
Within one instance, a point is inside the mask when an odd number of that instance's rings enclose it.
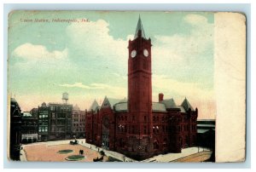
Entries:
{"label": "whole vintage Union Station postcard with blank right margin", "polygon": [[20,10],[8,32],[9,159],[245,160],[243,14]]}

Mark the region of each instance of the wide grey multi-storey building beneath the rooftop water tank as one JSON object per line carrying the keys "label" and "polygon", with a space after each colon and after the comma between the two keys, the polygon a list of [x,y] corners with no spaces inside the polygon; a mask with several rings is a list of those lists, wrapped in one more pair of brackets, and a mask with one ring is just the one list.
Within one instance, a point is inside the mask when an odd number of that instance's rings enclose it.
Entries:
{"label": "wide grey multi-storey building beneath the rooftop water tank", "polygon": [[49,103],[49,140],[73,139],[73,105]]}

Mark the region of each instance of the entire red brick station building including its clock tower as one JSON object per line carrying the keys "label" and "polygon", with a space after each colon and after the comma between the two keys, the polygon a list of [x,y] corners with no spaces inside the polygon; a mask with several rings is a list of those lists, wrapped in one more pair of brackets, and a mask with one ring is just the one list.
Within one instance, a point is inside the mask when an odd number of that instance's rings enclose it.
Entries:
{"label": "entire red brick station building including its clock tower", "polygon": [[195,145],[197,108],[161,93],[152,101],[151,46],[139,18],[128,46],[128,100],[105,97],[101,106],[95,100],[85,112],[86,142],[136,159]]}

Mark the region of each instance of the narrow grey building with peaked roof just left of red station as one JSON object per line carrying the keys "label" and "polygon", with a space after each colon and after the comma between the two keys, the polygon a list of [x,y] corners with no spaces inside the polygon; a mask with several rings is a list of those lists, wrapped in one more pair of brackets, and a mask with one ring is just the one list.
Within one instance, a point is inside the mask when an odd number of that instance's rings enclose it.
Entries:
{"label": "narrow grey building with peaked roof just left of red station", "polygon": [[73,137],[85,139],[85,112],[79,106],[73,107],[72,113]]}

